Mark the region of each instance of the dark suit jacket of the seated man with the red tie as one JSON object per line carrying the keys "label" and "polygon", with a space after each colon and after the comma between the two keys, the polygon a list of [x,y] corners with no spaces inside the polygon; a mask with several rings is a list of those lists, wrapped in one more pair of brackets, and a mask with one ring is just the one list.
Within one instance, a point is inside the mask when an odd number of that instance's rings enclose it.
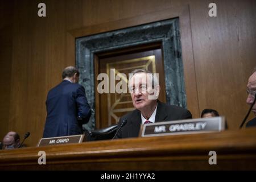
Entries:
{"label": "dark suit jacket of the seated man with the red tie", "polygon": [[[179,106],[167,105],[158,101],[155,122],[174,121],[188,118],[192,118],[192,114],[189,110]],[[138,137],[139,130],[141,128],[141,111],[135,109],[130,113],[127,113],[119,120],[119,125],[124,119],[127,119],[127,123],[119,130],[117,137],[115,138]]]}

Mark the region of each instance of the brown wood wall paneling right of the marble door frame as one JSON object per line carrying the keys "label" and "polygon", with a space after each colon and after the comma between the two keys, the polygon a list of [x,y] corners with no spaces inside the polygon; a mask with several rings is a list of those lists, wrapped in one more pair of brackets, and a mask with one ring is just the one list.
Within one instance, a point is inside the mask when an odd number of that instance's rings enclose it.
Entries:
{"label": "brown wood wall paneling right of the marble door frame", "polygon": [[256,3],[216,1],[215,18],[205,15],[208,4],[191,3],[199,109],[217,109],[235,129],[249,109],[245,89],[256,67]]}

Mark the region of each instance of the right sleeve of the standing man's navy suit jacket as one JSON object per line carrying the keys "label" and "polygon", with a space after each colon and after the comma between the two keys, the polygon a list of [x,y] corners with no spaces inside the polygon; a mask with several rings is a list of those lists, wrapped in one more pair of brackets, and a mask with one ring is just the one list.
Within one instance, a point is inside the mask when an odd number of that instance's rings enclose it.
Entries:
{"label": "right sleeve of the standing man's navy suit jacket", "polygon": [[92,111],[90,110],[87,98],[85,97],[85,89],[82,85],[80,85],[77,89],[76,105],[77,118],[79,118],[79,120],[81,120],[82,123],[87,123],[90,119]]}

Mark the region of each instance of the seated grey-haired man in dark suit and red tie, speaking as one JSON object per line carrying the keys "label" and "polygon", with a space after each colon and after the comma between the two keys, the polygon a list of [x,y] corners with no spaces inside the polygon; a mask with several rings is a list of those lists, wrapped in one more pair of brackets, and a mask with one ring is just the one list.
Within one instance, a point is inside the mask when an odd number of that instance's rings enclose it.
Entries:
{"label": "seated grey-haired man in dark suit and red tie, speaking", "polygon": [[158,78],[149,71],[135,69],[129,75],[129,90],[135,110],[121,117],[119,126],[123,120],[127,120],[127,123],[119,130],[116,138],[138,137],[141,125],[145,123],[192,118],[187,109],[158,100]]}

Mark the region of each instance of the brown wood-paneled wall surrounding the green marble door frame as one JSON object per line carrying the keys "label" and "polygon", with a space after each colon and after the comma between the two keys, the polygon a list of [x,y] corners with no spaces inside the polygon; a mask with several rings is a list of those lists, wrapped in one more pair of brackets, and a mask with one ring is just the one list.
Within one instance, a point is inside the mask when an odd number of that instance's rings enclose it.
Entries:
{"label": "brown wood-paneled wall surrounding the green marble door frame", "polygon": [[46,18],[37,16],[39,2],[1,2],[0,138],[9,130],[30,131],[26,143],[32,146],[42,137],[47,92],[61,81],[64,67],[75,65],[69,32],[182,5],[189,5],[194,60],[184,74],[195,72],[196,78],[196,89],[186,78],[186,91],[197,95],[187,98],[188,109],[199,117],[205,107],[214,108],[230,129],[240,125],[248,109],[247,78],[256,67],[255,1],[214,1],[216,18],[208,16],[211,1],[51,0],[44,1]]}

